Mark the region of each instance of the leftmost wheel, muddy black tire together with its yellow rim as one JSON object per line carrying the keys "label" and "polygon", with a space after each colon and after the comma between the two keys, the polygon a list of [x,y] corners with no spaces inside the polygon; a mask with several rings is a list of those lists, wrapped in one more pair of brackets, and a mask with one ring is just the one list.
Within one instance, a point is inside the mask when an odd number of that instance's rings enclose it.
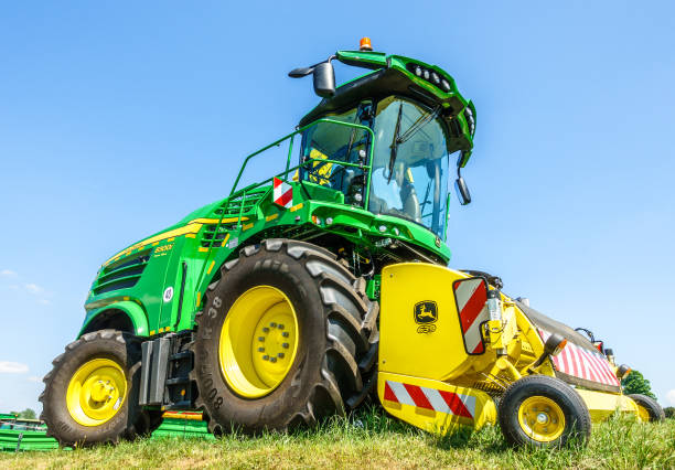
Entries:
{"label": "leftmost wheel, muddy black tire together with its yellow rim", "polygon": [[65,348],[43,380],[41,419],[62,446],[117,444],[151,432],[159,412],[138,405],[140,340],[116,330],[84,334]]}

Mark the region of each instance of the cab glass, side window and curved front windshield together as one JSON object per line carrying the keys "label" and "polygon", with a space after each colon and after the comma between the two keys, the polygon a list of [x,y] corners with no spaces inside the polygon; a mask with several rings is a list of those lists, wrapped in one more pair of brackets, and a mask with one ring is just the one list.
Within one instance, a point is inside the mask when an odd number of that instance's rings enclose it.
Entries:
{"label": "cab glass, side window and curved front windshield together", "polygon": [[[329,117],[373,129],[368,211],[413,221],[443,237],[449,156],[438,110],[392,96]],[[362,128],[318,122],[302,133],[299,179],[362,205],[368,147],[369,132]]]}

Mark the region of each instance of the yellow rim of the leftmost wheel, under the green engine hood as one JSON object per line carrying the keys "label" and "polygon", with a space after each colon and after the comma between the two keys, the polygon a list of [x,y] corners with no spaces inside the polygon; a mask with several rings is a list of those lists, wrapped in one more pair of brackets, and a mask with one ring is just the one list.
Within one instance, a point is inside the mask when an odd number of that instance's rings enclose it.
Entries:
{"label": "yellow rim of the leftmost wheel, under the green engine hood", "polygon": [[100,426],[113,419],[127,396],[127,378],[121,366],[109,359],[84,363],[68,383],[68,413],[83,426]]}

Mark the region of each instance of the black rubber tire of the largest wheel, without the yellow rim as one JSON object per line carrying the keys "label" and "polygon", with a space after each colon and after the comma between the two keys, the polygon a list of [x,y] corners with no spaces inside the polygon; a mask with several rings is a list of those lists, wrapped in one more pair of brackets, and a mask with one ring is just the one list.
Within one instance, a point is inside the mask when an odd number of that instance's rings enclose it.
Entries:
{"label": "black rubber tire of the largest wheel, without the yellow rim", "polygon": [[[232,427],[247,434],[312,426],[358,406],[374,389],[378,305],[330,252],[309,243],[268,239],[226,263],[206,292],[194,342],[196,405],[218,435]],[[255,286],[272,286],[290,300],[298,317],[296,359],[268,395],[244,398],[219,367],[223,322],[235,300]]]}

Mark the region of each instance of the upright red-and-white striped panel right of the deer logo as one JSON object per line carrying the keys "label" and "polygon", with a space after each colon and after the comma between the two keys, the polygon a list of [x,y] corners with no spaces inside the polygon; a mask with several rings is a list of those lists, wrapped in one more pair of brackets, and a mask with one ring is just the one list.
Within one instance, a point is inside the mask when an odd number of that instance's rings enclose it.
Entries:
{"label": "upright red-and-white striped panel right of the deer logo", "polygon": [[490,319],[488,312],[488,290],[482,278],[456,281],[453,285],[457,311],[460,316],[464,348],[469,354],[485,352],[481,323]]}

